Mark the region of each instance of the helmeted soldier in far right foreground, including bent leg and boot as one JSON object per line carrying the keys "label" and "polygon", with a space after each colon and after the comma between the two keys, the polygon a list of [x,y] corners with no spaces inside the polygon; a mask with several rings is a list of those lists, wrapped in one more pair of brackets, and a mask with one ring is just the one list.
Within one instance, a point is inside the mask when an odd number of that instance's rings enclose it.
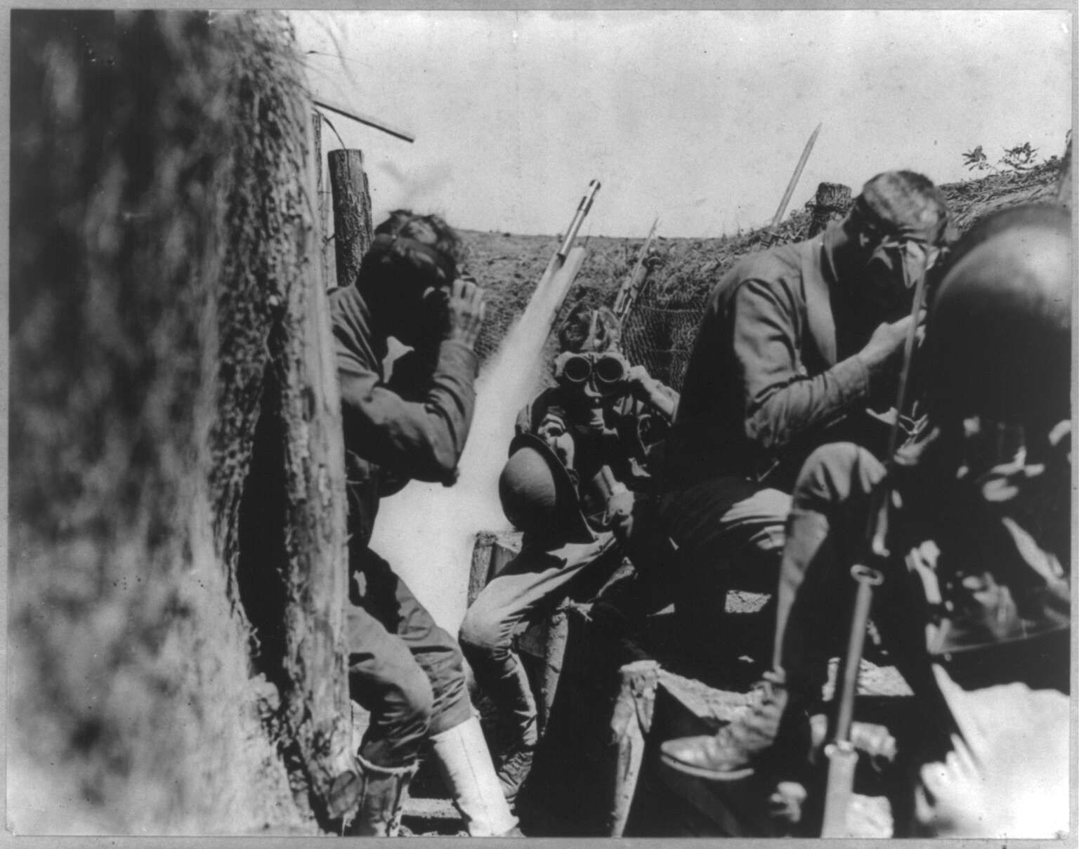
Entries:
{"label": "helmeted soldier in far right foreground, including bent leg and boot", "polygon": [[[804,780],[808,716],[849,629],[849,570],[887,483],[896,557],[872,615],[919,699],[924,766],[906,827],[1067,830],[1073,289],[1061,207],[997,213],[959,242],[919,351],[925,438],[901,449],[891,480],[853,443],[809,457],[787,524],[771,669],[716,735],[665,742],[668,766]],[[928,556],[904,560],[911,550]]]}

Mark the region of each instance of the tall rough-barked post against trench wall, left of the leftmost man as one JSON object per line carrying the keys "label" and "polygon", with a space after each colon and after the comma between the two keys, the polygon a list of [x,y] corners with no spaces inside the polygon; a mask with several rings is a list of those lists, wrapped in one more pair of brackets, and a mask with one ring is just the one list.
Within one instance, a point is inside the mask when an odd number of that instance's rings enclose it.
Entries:
{"label": "tall rough-barked post against trench wall, left of the leftmost man", "polygon": [[[306,191],[314,174],[308,134]],[[312,200],[313,196],[312,196]],[[329,306],[317,261],[317,204],[298,222],[302,272],[286,290],[279,350],[287,532],[284,666],[289,725],[315,799],[340,816],[358,797],[345,666],[347,598],[344,438]],[[306,262],[302,260],[306,258]]]}

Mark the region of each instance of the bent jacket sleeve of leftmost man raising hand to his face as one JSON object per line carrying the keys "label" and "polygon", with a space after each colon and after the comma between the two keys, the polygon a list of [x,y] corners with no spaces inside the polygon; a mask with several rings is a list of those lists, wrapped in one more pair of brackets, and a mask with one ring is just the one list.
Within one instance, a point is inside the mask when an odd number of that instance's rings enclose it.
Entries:
{"label": "bent jacket sleeve of leftmost man raising hand to his face", "polygon": [[345,442],[365,460],[418,480],[452,483],[476,403],[475,353],[445,341],[419,400],[406,400],[338,345]]}

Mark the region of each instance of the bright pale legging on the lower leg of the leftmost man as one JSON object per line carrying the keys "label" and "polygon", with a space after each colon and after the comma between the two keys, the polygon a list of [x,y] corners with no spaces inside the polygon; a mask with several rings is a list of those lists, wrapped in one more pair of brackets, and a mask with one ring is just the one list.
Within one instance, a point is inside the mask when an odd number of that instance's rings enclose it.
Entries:
{"label": "bright pale legging on the lower leg of the leftmost man", "polygon": [[470,837],[511,836],[517,818],[509,811],[494,775],[479,720],[473,716],[431,738],[435,762]]}

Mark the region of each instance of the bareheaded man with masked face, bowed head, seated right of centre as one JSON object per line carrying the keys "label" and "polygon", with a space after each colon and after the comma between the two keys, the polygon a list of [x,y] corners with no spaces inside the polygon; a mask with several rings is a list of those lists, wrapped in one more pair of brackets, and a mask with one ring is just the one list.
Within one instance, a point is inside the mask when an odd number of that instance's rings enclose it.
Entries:
{"label": "bareheaded man with masked face, bowed head, seated right of centre", "polygon": [[926,177],[887,172],[841,222],[743,258],[713,289],[658,496],[679,548],[675,616],[709,659],[747,651],[724,600],[735,586],[775,586],[808,454],[841,439],[884,452],[914,284],[941,256],[946,224]]}

